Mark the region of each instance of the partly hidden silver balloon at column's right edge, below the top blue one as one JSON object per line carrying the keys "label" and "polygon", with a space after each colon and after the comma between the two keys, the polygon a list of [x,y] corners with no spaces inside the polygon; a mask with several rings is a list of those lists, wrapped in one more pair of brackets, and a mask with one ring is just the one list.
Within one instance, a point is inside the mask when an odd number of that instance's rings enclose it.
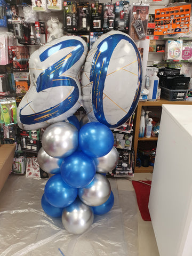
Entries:
{"label": "partly hidden silver balloon at column's right edge, below the top blue one", "polygon": [[118,163],[118,151],[115,147],[102,157],[95,157],[96,171],[99,173],[106,173],[112,171]]}

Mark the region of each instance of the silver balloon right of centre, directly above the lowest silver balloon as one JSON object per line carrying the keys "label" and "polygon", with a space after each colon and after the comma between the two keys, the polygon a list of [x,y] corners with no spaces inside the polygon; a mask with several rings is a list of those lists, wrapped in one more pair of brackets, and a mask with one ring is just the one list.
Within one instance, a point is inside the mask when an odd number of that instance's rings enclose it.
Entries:
{"label": "silver balloon right of centre, directly above the lowest silver balloon", "polygon": [[78,189],[81,201],[89,206],[99,206],[107,201],[110,196],[111,186],[108,179],[96,173],[89,185]]}

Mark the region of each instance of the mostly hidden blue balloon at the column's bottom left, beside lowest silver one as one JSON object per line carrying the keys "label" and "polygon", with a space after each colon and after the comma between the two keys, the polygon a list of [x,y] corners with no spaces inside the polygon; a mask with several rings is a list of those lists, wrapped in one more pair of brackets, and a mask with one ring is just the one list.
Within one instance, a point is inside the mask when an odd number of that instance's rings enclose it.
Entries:
{"label": "mostly hidden blue balloon at the column's bottom left, beside lowest silver one", "polygon": [[50,215],[51,217],[57,217],[57,218],[62,216],[63,208],[55,207],[51,205],[49,202],[47,202],[45,198],[45,194],[43,194],[42,196],[41,205],[44,212],[47,215]]}

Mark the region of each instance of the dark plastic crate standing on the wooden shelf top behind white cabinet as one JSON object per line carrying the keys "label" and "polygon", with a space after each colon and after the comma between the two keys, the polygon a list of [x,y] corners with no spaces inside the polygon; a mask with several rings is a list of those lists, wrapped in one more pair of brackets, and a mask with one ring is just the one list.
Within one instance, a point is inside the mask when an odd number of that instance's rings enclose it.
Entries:
{"label": "dark plastic crate standing on the wooden shelf top behind white cabinet", "polygon": [[169,101],[182,101],[186,99],[187,90],[170,90],[161,86],[161,98]]}

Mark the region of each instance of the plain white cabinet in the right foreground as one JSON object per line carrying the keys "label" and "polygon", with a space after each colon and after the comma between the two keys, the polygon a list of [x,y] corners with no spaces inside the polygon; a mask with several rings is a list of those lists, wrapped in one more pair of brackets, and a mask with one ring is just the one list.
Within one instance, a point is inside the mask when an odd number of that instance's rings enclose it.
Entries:
{"label": "plain white cabinet in the right foreground", "polygon": [[149,212],[160,256],[191,256],[192,106],[162,107]]}

